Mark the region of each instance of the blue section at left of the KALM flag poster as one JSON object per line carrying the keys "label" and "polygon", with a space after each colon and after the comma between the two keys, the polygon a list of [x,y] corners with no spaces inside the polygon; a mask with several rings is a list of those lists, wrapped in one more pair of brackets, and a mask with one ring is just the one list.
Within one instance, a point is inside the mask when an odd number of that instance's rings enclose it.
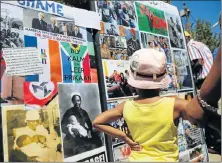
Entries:
{"label": "blue section at left of the KALM flag poster", "polygon": [[61,56],[62,56],[62,72],[63,72],[63,83],[72,83],[72,78],[70,80],[70,75],[72,76],[71,72],[71,61],[67,59],[67,55],[65,54],[64,50],[61,49]]}

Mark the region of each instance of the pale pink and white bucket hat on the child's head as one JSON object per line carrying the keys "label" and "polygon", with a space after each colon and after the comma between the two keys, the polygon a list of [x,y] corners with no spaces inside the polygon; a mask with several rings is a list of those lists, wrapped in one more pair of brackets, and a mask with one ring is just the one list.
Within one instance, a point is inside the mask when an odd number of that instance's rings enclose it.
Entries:
{"label": "pale pink and white bucket hat on the child's head", "polygon": [[140,49],[130,59],[128,83],[139,89],[167,88],[171,78],[166,72],[166,56],[155,49]]}

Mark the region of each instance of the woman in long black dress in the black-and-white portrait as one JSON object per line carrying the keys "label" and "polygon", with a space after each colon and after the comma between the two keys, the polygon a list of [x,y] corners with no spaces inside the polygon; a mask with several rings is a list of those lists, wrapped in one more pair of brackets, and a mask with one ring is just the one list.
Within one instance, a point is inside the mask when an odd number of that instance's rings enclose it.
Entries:
{"label": "woman in long black dress in the black-and-white portrait", "polygon": [[[82,99],[80,93],[72,93],[71,101],[73,103],[73,107],[69,108],[62,118],[62,132],[65,134],[63,140],[65,158],[93,150],[102,145],[101,139],[93,131],[92,122],[88,113],[81,107],[82,100],[84,99]],[[76,127],[72,127],[70,129],[70,118],[72,116],[76,118],[76,123],[81,125],[79,128],[84,129],[87,132],[87,135],[82,136],[84,134],[81,134],[80,130]]]}

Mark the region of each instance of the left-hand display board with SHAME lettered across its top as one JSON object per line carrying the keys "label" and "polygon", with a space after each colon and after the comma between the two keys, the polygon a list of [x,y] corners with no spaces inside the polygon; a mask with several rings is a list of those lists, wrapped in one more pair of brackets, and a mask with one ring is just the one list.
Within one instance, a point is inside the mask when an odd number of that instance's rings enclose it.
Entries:
{"label": "left-hand display board with SHAME lettered across its top", "polygon": [[1,1],[4,161],[108,161],[104,134],[92,128],[101,113],[92,34],[74,11]]}

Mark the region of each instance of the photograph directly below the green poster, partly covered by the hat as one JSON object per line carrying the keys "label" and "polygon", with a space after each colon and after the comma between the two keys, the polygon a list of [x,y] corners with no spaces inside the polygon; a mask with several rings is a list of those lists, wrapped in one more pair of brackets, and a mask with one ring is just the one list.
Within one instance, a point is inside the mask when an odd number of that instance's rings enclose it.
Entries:
{"label": "photograph directly below the green poster, partly covered by the hat", "polygon": [[155,36],[148,33],[140,33],[143,48],[153,48],[164,52],[167,58],[167,63],[172,63],[172,55],[167,37]]}

